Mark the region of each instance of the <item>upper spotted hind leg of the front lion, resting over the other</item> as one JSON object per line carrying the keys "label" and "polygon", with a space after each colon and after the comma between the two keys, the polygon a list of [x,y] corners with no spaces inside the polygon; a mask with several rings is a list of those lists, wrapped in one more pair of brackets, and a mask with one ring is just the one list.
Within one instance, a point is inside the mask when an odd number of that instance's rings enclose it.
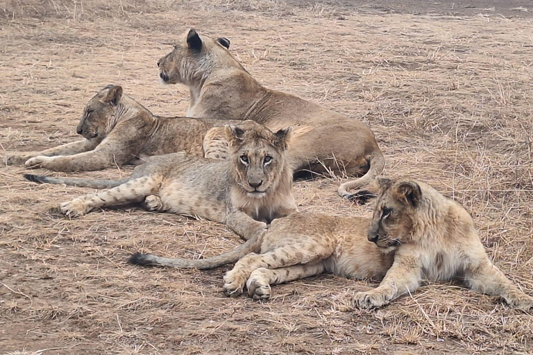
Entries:
{"label": "upper spotted hind leg of the front lion, resting over the other", "polygon": [[257,268],[277,269],[314,263],[329,257],[334,251],[335,244],[333,243],[310,240],[309,243],[303,245],[301,243],[287,243],[264,254],[250,253],[237,261],[232,270],[226,272],[224,293],[231,297],[240,295],[246,280]]}

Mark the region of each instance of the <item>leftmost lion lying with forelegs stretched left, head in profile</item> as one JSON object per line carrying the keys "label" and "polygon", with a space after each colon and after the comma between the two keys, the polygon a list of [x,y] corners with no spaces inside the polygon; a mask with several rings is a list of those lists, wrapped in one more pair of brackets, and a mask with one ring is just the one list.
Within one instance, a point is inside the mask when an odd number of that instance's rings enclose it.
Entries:
{"label": "leftmost lion lying with forelegs stretched left, head in profile", "polygon": [[76,132],[82,141],[8,157],[8,165],[24,164],[53,171],[94,171],[140,164],[152,155],[185,151],[196,157],[226,159],[224,125],[257,125],[255,121],[156,116],[119,85],[101,89],[85,105]]}

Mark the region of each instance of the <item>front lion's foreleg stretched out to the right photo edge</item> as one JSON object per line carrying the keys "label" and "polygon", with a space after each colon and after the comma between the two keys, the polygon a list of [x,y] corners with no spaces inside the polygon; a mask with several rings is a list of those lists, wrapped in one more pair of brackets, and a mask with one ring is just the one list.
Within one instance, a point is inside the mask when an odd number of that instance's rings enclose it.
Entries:
{"label": "front lion's foreleg stretched out to the right photo edge", "polygon": [[533,297],[523,293],[488,258],[477,267],[468,268],[464,281],[474,291],[502,297],[510,306],[525,311],[533,309]]}

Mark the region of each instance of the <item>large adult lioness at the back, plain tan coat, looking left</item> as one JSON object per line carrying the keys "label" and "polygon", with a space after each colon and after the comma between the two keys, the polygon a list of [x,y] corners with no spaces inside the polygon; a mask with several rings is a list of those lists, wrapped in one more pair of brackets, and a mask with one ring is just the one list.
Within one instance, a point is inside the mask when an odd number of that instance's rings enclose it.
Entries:
{"label": "large adult lioness at the back, plain tan coat, looking left", "polygon": [[253,120],[278,130],[294,128],[293,171],[363,175],[339,187],[348,190],[371,182],[384,168],[384,157],[369,126],[310,101],[263,87],[228,51],[227,38],[200,37],[194,29],[158,60],[164,84],[189,87],[187,116]]}

